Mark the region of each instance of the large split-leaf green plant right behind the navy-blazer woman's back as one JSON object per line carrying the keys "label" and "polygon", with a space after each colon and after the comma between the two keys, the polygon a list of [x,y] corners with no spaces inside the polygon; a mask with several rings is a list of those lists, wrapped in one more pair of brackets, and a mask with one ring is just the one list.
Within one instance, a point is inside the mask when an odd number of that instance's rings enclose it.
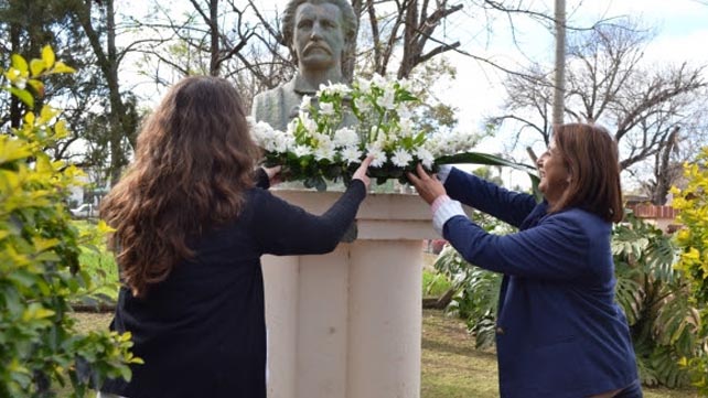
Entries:
{"label": "large split-leaf green plant right behind the navy-blazer woman's back", "polygon": [[630,323],[640,377],[647,386],[688,385],[683,357],[699,352],[698,318],[686,279],[674,270],[672,237],[632,213],[613,232],[615,298]]}

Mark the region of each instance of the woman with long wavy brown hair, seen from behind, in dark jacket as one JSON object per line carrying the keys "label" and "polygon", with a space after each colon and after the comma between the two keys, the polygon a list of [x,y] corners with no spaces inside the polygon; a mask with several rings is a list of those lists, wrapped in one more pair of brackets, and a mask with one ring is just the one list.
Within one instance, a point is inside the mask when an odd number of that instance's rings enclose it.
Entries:
{"label": "woman with long wavy brown hair, seen from behind, in dark jacket", "polygon": [[184,78],[148,119],[101,205],[124,283],[111,329],[132,334],[144,365],[104,395],[266,397],[260,256],[332,251],[366,196],[371,159],[317,216],[255,186],[258,157],[222,78]]}

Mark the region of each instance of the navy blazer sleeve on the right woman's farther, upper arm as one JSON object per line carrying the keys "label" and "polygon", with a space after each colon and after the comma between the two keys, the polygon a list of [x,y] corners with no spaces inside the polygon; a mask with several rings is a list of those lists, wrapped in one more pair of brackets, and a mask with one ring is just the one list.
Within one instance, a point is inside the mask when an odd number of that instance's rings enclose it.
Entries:
{"label": "navy blazer sleeve on the right woman's farther, upper arm", "polygon": [[451,198],[517,228],[537,204],[533,195],[507,191],[455,168],[450,171],[444,187]]}

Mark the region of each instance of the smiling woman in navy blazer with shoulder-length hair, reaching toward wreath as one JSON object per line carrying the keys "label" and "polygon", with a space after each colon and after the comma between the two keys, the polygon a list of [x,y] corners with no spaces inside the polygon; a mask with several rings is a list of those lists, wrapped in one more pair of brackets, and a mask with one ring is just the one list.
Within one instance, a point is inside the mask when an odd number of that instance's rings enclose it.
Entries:
{"label": "smiling woman in navy blazer with shoulder-length hair, reaching toward wreath", "polygon": [[[642,397],[626,318],[614,301],[612,223],[622,219],[608,131],[558,126],[538,159],[544,201],[458,169],[408,176],[433,226],[469,262],[504,275],[496,349],[503,398]],[[495,236],[460,202],[518,227]]]}

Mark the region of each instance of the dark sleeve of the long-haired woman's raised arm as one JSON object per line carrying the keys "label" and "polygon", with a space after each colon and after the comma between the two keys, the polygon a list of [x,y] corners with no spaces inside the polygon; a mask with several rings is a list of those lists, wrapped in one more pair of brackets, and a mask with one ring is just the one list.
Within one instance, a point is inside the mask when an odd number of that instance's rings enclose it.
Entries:
{"label": "dark sleeve of the long-haired woman's raised arm", "polygon": [[322,215],[314,215],[269,192],[264,193],[253,219],[254,234],[264,254],[318,255],[334,250],[354,222],[366,187],[353,180]]}

